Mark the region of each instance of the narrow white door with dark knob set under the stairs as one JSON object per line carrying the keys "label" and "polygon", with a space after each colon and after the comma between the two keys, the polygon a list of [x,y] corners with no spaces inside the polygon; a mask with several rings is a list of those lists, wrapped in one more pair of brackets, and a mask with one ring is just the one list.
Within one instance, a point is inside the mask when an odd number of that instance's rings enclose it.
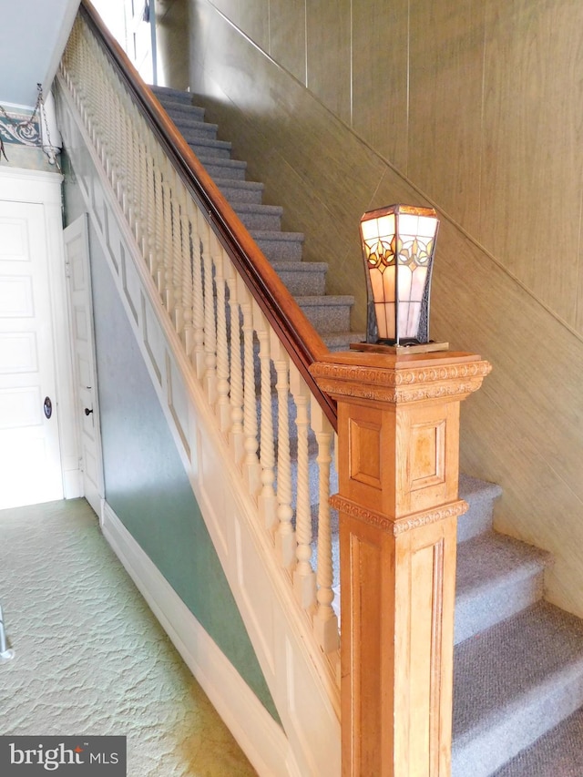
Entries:
{"label": "narrow white door with dark knob set under the stairs", "polygon": [[97,408],[97,370],[93,346],[87,216],[80,216],[68,226],[64,231],[64,238],[83,490],[87,502],[100,516],[104,488]]}

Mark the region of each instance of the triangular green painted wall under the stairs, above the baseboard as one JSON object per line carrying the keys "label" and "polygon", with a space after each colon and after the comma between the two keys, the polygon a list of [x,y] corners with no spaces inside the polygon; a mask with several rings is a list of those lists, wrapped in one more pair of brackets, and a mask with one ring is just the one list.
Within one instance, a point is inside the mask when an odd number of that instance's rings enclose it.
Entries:
{"label": "triangular green painted wall under the stairs, above the baseboard", "polygon": [[[78,187],[67,175],[66,222],[82,210]],[[89,242],[107,502],[279,721],[91,227]]]}

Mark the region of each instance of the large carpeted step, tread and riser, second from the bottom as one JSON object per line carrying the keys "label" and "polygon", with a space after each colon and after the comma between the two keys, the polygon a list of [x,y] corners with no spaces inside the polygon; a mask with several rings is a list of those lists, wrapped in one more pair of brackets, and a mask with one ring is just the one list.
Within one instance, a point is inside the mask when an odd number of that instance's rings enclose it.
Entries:
{"label": "large carpeted step, tread and riser, second from the bottom", "polygon": [[455,648],[452,777],[487,777],[583,705],[583,622],[548,604]]}

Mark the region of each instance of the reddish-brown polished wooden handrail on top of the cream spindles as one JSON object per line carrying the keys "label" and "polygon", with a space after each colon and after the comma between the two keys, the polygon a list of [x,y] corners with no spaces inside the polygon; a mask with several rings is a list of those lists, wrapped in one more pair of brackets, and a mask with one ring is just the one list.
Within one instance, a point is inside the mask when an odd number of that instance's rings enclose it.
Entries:
{"label": "reddish-brown polished wooden handrail on top of the cream spindles", "polygon": [[82,0],[80,12],[111,57],[112,65],[148,119],[160,145],[172,161],[191,196],[206,214],[217,237],[251,291],[290,358],[310,387],[322,411],[337,428],[336,404],[322,392],[310,373],[310,365],[321,360],[328,348],[307,320],[292,294],[280,280],[249,231],[210,178],[199,158],[179,133],[151,89],[103,24],[89,0]]}

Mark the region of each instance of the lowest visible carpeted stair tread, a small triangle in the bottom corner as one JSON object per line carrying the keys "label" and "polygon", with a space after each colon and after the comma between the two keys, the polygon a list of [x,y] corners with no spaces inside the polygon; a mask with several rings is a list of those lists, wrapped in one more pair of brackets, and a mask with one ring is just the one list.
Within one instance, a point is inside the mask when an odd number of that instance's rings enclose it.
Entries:
{"label": "lowest visible carpeted stair tread, a small triangle in the bottom corner", "polygon": [[493,777],[581,777],[583,708],[518,753]]}

